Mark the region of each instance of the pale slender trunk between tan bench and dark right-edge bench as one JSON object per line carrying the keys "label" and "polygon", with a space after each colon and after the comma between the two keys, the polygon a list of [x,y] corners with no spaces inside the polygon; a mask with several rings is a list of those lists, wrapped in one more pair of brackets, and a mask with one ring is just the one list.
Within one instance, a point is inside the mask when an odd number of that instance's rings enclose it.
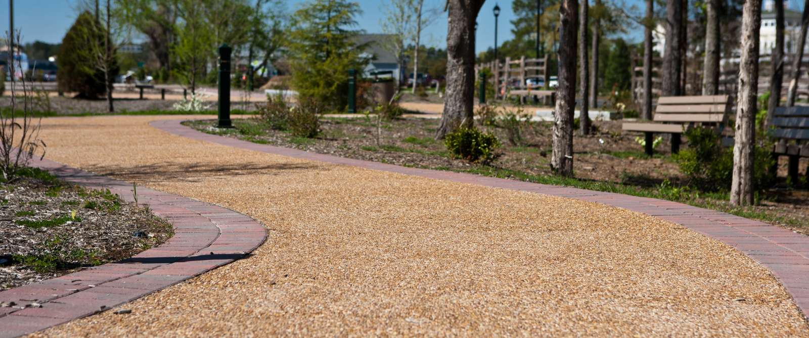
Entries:
{"label": "pale slender trunk between tan bench and dark right-edge bench", "polygon": [[760,26],[761,0],[744,2],[731,205],[752,205],[753,203],[753,157],[755,154],[753,149],[756,142]]}

